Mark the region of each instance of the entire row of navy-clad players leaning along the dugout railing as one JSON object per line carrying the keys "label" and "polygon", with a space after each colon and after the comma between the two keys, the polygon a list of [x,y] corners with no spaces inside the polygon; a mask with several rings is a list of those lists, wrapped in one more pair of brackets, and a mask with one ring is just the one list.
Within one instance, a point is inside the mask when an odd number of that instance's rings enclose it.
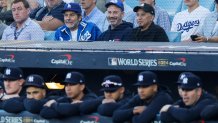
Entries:
{"label": "entire row of navy-clad players leaning along the dugout railing", "polygon": [[[175,83],[178,101],[173,100],[172,91],[167,85],[160,84],[157,74],[152,71],[138,74],[132,85],[137,94],[132,94],[128,89],[131,87],[125,87],[118,75],[104,77],[100,89],[103,95],[100,96],[89,89],[85,76],[76,71],[66,73],[65,79],[57,84],[46,83],[38,74],[24,78],[20,68],[5,68],[1,81],[0,109],[6,112],[1,111],[2,116],[30,112],[50,120],[84,118],[98,113],[109,117],[113,123],[203,123],[218,120],[217,98],[204,90],[202,84],[205,82],[191,72],[182,72]],[[25,114],[26,117],[32,116]]]}

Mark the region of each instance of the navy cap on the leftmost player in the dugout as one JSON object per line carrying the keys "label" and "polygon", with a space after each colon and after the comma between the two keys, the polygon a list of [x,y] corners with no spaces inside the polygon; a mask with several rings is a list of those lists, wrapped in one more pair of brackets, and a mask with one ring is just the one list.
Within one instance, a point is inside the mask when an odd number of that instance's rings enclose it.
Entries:
{"label": "navy cap on the leftmost player in the dugout", "polygon": [[23,71],[20,68],[6,68],[2,76],[3,80],[18,80],[23,78]]}

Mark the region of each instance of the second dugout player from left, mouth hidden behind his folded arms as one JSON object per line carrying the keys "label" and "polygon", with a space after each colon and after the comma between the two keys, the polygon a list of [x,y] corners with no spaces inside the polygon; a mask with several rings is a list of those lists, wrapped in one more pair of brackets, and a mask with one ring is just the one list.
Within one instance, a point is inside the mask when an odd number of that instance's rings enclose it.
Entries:
{"label": "second dugout player from left, mouth hidden behind his folded arms", "polygon": [[24,89],[26,98],[14,98],[3,105],[3,109],[10,113],[19,113],[27,110],[31,113],[39,113],[46,97],[44,79],[40,75],[32,74],[26,78]]}

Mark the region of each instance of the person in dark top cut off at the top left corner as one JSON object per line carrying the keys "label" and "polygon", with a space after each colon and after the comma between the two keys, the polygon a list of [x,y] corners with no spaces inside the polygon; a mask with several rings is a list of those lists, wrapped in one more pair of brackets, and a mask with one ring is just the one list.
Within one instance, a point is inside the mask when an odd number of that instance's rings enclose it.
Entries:
{"label": "person in dark top cut off at the top left corner", "polygon": [[1,1],[1,11],[0,11],[0,20],[6,25],[10,25],[14,22],[14,18],[11,11],[12,0],[0,0]]}

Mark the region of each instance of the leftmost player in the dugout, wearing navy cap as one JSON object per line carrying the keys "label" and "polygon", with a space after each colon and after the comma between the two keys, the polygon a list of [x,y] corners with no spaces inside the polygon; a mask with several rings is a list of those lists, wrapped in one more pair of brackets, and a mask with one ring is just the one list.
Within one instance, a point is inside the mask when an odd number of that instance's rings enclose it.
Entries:
{"label": "leftmost player in the dugout, wearing navy cap", "polygon": [[[23,71],[20,68],[6,68],[2,78],[5,93],[1,97],[0,108],[13,113],[22,111],[22,103],[25,97],[25,91],[22,89],[25,82]],[[14,107],[14,103],[20,105]]]}

